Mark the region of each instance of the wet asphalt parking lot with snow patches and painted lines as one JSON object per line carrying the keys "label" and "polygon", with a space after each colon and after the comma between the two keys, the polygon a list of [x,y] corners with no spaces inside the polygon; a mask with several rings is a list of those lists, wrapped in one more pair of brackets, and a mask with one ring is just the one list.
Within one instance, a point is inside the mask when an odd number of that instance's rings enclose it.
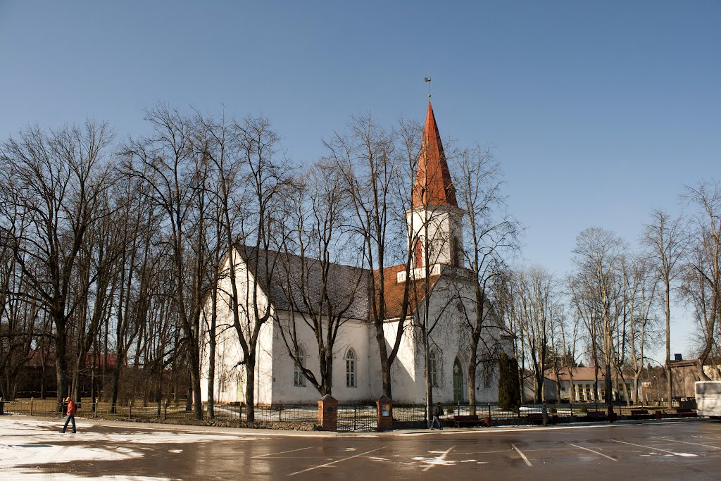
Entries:
{"label": "wet asphalt parking lot with snow patches and painted lines", "polygon": [[0,418],[0,479],[718,479],[721,423],[278,433]]}

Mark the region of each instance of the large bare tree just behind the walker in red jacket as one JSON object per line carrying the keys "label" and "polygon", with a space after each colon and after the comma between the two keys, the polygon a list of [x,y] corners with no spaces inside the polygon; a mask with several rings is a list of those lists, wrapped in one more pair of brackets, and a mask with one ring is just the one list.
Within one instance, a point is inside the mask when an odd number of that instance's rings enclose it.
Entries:
{"label": "large bare tree just behind the walker in red jacket", "polygon": [[58,405],[69,394],[68,323],[81,301],[73,296],[79,256],[89,229],[106,215],[100,199],[111,137],[107,125],[92,122],[49,132],[35,126],[0,149],[1,195],[27,216],[17,263],[55,327]]}

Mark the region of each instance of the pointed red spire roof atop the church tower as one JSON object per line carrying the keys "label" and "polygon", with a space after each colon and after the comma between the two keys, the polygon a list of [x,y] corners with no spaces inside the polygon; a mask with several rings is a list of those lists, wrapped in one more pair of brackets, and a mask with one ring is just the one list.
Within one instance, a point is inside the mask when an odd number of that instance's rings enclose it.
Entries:
{"label": "pointed red spire roof atop the church tower", "polygon": [[428,101],[428,114],[425,116],[423,142],[418,156],[418,172],[413,186],[413,208],[441,206],[448,204],[458,207],[456,187],[448,172],[446,154],[443,154],[441,134],[435,124],[433,107]]}

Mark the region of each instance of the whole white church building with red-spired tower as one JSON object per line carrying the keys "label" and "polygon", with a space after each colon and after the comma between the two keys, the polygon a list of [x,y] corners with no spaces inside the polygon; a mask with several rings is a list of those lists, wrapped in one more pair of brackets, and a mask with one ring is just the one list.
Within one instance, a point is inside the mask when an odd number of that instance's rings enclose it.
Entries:
{"label": "whole white church building with red-spired tower", "polygon": [[[426,363],[421,328],[424,322],[428,322],[434,325],[428,357],[433,402],[463,403],[468,400],[466,378],[470,352],[470,330],[466,319],[475,316],[474,283],[477,279],[471,270],[464,268],[461,251],[464,211],[456,201],[455,187],[430,102],[417,169],[412,208],[405,213],[412,265],[410,268],[396,265],[384,269],[386,345],[392,346],[395,340],[405,283],[423,284],[430,289],[426,295],[411,295],[407,327],[391,370],[392,394],[396,403],[425,403]],[[236,248],[234,257],[242,315],[254,316],[255,312],[261,316],[270,314],[257,340],[255,404],[316,402],[321,394],[309,383],[300,366],[313,371],[319,378],[317,339],[304,322],[297,322],[298,318],[307,315],[303,303],[298,301],[301,294],[283,286],[283,278],[301,268],[306,279],[312,283],[313,261],[243,246]],[[275,281],[270,283],[262,281],[269,278],[269,271],[283,275],[275,275]],[[333,285],[328,295],[342,304],[342,323],[332,353],[332,396],[341,403],[377,400],[383,394],[376,327],[371,322],[371,301],[374,297],[371,282],[378,278],[378,274],[377,270],[346,265],[334,264],[329,268]],[[230,292],[230,282],[226,276],[218,290]],[[253,309],[253,306],[260,306],[260,309]],[[477,403],[497,402],[497,354],[500,350],[511,352],[512,335],[490,306],[487,309],[491,314],[490,320],[485,321],[488,327],[483,330],[479,343],[479,359],[482,362],[476,370]],[[213,392],[214,401],[218,403],[245,402],[245,367],[239,364],[243,353],[233,319],[228,303],[218,299]],[[290,325],[291,321],[295,321],[293,325],[296,326],[296,358],[299,362],[291,357],[281,332],[281,328]],[[204,352],[201,387],[203,401],[206,401],[208,349],[205,348]]]}

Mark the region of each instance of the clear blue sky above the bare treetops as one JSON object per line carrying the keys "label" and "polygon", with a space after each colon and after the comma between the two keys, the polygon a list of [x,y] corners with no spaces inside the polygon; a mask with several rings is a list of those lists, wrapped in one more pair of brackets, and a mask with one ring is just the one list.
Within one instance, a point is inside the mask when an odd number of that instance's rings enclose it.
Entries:
{"label": "clear blue sky above the bare treetops", "polygon": [[[523,255],[565,275],[588,226],[634,243],[719,179],[721,2],[0,0],[0,138],[157,102],[265,115],[292,159],[350,115],[495,146]],[[676,308],[673,350],[689,354]]]}

